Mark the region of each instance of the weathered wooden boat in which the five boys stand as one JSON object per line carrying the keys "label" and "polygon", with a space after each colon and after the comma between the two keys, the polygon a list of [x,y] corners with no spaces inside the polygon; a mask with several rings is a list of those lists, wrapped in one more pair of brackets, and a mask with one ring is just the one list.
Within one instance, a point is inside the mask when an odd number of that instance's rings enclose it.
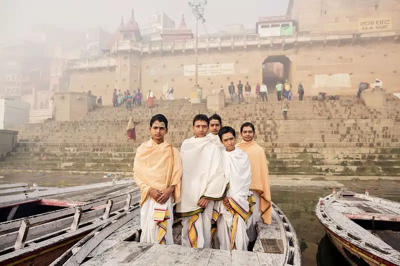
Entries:
{"label": "weathered wooden boat in which the five boys stand", "polygon": [[[279,208],[272,204],[271,225],[257,224],[258,238],[253,251],[222,251],[191,249],[180,245],[139,243],[140,217],[137,216],[117,230],[101,227],[73,247],[50,266],[98,265],[251,265],[299,266],[300,249],[293,227]],[[175,221],[174,226],[179,226]],[[179,242],[179,228],[174,240]],[[179,233],[177,233],[179,232]]]}

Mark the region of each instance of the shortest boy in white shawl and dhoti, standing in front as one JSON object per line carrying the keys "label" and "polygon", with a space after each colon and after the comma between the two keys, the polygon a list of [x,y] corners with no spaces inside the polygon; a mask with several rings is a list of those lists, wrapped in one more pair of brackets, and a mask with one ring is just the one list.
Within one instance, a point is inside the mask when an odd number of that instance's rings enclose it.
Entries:
{"label": "shortest boy in white shawl and dhoti, standing in front", "polygon": [[220,215],[216,221],[219,249],[247,251],[246,222],[252,214],[253,198],[250,196],[251,170],[247,155],[235,148],[236,134],[231,127],[222,127],[219,139],[225,151],[222,153],[225,178],[229,182]]}

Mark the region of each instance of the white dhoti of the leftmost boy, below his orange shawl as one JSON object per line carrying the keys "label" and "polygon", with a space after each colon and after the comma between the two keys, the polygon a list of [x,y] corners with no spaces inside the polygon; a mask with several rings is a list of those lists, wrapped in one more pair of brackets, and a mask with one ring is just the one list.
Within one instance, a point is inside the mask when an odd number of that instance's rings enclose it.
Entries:
{"label": "white dhoti of the leftmost boy, below his orange shawl", "polygon": [[[161,209],[164,208],[168,211],[167,215],[165,215],[163,223],[154,221],[154,209],[157,210],[159,207],[161,207]],[[161,205],[157,204],[151,198],[148,198],[143,203],[143,206],[140,209],[140,242],[149,244],[160,244],[160,242],[164,241],[164,244],[166,245],[173,245],[172,211],[173,207],[171,199],[169,199],[165,204]],[[164,232],[164,228],[166,228],[166,233]]]}

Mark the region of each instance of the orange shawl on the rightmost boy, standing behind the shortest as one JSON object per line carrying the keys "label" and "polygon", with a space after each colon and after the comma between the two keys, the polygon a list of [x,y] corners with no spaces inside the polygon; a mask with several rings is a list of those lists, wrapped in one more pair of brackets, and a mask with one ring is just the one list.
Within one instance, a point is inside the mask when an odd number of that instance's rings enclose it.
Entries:
{"label": "orange shawl on the rightmost boy, standing behind the shortest", "polygon": [[264,150],[254,141],[244,141],[236,144],[236,147],[248,156],[251,168],[250,190],[258,192],[260,197],[260,216],[264,224],[271,223],[271,192],[269,189],[268,165]]}

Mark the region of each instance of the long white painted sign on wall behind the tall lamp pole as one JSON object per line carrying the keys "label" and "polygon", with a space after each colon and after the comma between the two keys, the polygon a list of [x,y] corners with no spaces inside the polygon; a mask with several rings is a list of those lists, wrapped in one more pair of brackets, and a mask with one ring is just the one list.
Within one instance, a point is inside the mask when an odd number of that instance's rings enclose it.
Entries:
{"label": "long white painted sign on wall behind the tall lamp pole", "polygon": [[[194,76],[195,65],[185,65],[184,76]],[[200,77],[234,74],[233,63],[198,65],[197,74]]]}

